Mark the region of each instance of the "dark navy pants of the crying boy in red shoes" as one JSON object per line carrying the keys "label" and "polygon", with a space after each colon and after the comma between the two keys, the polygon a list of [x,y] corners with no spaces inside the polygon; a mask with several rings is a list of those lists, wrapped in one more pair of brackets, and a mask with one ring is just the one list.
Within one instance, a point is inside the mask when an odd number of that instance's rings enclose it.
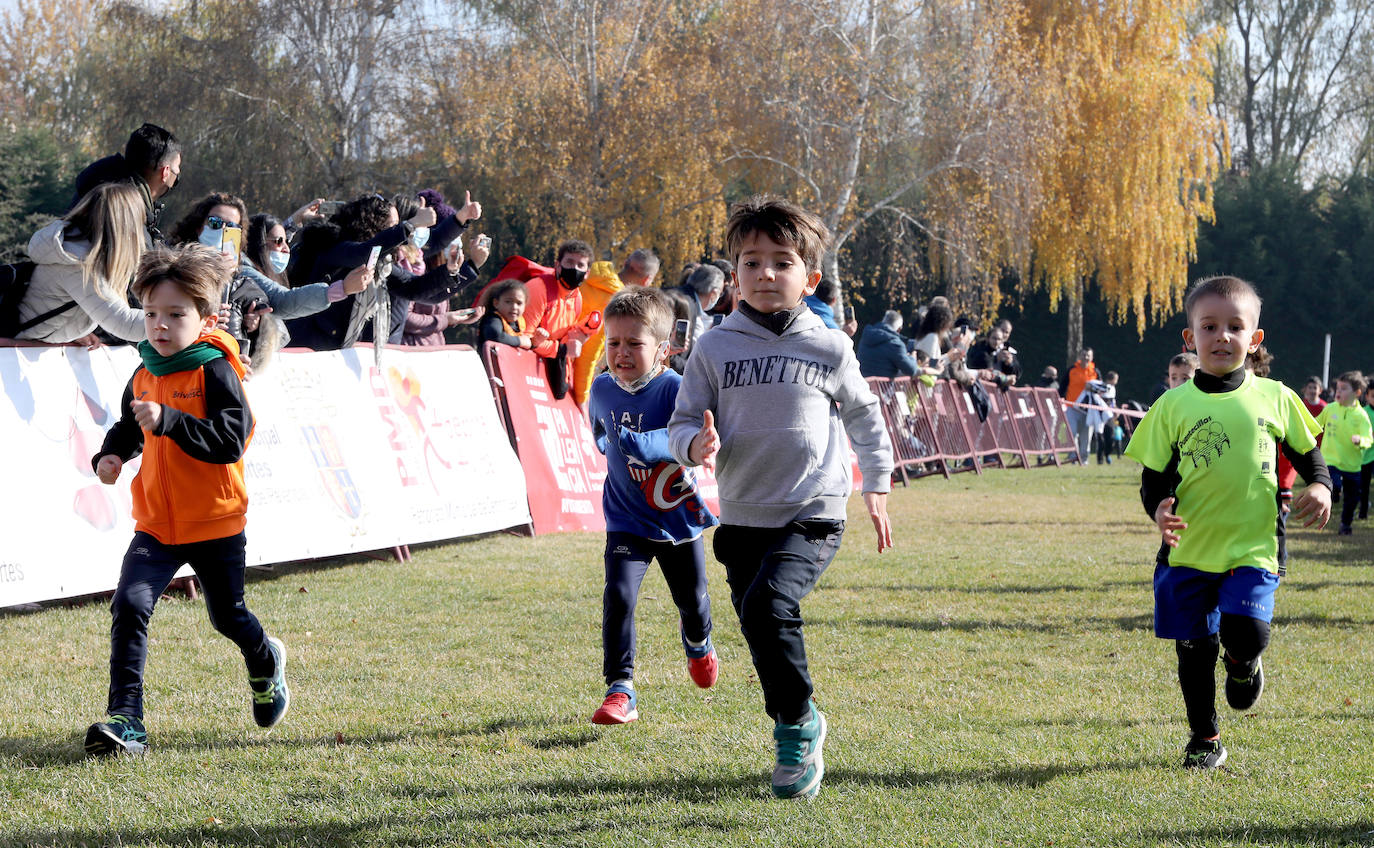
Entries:
{"label": "dark navy pants of the crying boy in red shoes", "polygon": [[703,642],[710,635],[706,553],[701,537],[683,544],[653,542],[632,533],[606,533],[606,592],[602,596],[602,672],[606,684],[635,678],[635,603],[649,564],[668,581],[682,616],[683,635]]}

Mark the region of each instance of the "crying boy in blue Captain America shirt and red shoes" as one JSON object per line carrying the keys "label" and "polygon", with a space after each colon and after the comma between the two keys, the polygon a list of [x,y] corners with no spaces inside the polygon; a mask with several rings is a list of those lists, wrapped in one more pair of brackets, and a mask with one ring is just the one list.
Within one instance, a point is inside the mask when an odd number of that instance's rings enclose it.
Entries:
{"label": "crying boy in blue Captain America shirt and red shoes", "polygon": [[665,367],[673,306],[660,289],[632,286],[606,304],[607,371],[592,381],[588,414],[606,455],[606,592],[602,672],[606,700],[594,724],[639,717],[635,694],[635,602],[649,564],[668,581],[682,618],[687,673],[710,689],[719,664],[710,643],[710,595],[701,533],[717,524],[691,469],[668,451],[668,418],[682,377]]}

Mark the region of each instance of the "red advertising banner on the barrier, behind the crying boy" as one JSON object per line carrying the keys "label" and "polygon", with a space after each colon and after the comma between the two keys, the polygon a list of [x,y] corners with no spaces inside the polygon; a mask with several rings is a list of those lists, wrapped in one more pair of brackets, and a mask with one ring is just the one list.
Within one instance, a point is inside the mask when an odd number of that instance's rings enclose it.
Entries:
{"label": "red advertising banner on the barrier, behind the crying boy", "polygon": [[600,499],[606,458],[572,393],[555,399],[544,360],[529,350],[488,345],[486,356],[502,381],[534,532],[605,532]]}

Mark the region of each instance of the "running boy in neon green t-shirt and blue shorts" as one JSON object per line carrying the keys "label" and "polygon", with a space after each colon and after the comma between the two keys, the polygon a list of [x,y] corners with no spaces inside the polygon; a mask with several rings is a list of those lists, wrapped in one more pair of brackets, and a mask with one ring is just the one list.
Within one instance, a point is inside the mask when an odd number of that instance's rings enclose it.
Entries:
{"label": "running boy in neon green t-shirt and blue shorts", "polygon": [[1293,390],[1245,368],[1264,339],[1260,297],[1234,276],[1198,282],[1184,300],[1193,379],[1169,389],[1136,427],[1140,500],[1164,544],[1154,568],[1154,634],[1173,639],[1191,735],[1187,768],[1226,763],[1216,715],[1216,658],[1224,647],[1226,701],[1250,709],[1264,691],[1278,576],[1278,480],[1283,451],[1308,487],[1296,518],[1326,525],[1330,476],[1316,422]]}

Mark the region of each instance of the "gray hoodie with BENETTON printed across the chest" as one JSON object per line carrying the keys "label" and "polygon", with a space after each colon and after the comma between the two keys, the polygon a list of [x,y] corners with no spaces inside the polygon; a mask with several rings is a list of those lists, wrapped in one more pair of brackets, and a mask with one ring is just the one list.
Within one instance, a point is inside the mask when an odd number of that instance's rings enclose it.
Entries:
{"label": "gray hoodie with BENETTON printed across the chest", "polygon": [[[732,312],[697,339],[668,422],[673,458],[688,456],[710,410],[720,432],[720,520],[785,526],[845,518],[853,489],[849,445],[864,492],[892,488],[892,444],[878,399],[840,330],[801,311],[782,335]],[[845,441],[845,432],[849,441]]]}

